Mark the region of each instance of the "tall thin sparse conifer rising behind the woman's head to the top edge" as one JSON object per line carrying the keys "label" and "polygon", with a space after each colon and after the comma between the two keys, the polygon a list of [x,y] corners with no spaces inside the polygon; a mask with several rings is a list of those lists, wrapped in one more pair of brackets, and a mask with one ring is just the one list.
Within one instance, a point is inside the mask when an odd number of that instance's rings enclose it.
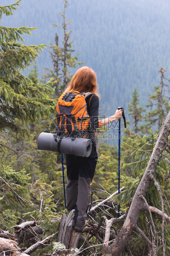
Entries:
{"label": "tall thin sparse conifer rising behind the woman's head to the top edge", "polygon": [[77,62],[78,55],[75,57],[72,56],[72,53],[75,52],[75,50],[72,48],[72,43],[69,43],[69,38],[71,34],[71,30],[67,32],[67,26],[71,23],[71,21],[66,22],[67,16],[65,15],[66,8],[69,5],[68,1],[64,0],[64,12],[63,14],[60,13],[60,15],[63,18],[63,23],[60,26],[57,24],[54,24],[57,28],[62,28],[64,32],[64,38],[62,41],[62,46],[59,46],[59,38],[57,33],[55,34],[55,45],[50,43],[51,45],[51,58],[53,62],[53,69],[46,69],[49,71],[49,73],[44,74],[44,78],[53,78],[57,83],[54,85],[55,89],[55,95],[57,97],[60,96],[60,94],[63,92],[63,90],[66,88],[67,84],[69,83],[71,79],[71,73],[69,72],[70,68],[75,68],[77,65],[82,64],[81,62]]}

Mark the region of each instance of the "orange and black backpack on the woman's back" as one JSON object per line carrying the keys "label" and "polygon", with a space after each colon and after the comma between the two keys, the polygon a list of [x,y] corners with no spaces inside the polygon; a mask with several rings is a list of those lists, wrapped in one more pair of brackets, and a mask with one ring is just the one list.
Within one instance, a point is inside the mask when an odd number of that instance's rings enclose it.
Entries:
{"label": "orange and black backpack on the woman's back", "polygon": [[57,102],[55,122],[56,134],[60,137],[88,137],[90,117],[87,112],[86,97],[94,93],[63,92]]}

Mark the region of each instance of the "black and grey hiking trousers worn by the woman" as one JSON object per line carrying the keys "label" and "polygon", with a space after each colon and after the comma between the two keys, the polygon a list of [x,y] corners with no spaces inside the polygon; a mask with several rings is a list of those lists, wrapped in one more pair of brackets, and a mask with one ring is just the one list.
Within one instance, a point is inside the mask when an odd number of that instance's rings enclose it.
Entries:
{"label": "black and grey hiking trousers worn by the woman", "polygon": [[77,226],[83,226],[87,219],[90,183],[94,177],[97,157],[81,157],[66,154],[67,163],[67,210],[75,209]]}

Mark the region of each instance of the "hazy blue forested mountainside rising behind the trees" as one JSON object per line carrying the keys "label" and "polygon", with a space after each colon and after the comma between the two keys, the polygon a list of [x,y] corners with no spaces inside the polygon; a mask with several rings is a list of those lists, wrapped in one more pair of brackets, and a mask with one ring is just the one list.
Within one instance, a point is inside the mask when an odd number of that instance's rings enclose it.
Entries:
{"label": "hazy blue forested mountainside rising behind the trees", "polygon": [[[1,0],[1,5],[13,0]],[[62,0],[22,0],[13,17],[2,17],[1,26],[37,27],[25,43],[49,45],[55,32],[62,41],[62,30],[53,26],[62,23]],[[107,116],[113,108],[131,100],[136,87],[142,104],[147,103],[153,85],[158,85],[158,70],[163,66],[170,78],[170,4],[168,0],[70,0],[67,21],[72,20],[71,40],[79,61],[91,66],[97,74],[101,93],[101,114]],[[37,64],[52,66],[47,47]],[[127,109],[126,109],[127,113]]]}

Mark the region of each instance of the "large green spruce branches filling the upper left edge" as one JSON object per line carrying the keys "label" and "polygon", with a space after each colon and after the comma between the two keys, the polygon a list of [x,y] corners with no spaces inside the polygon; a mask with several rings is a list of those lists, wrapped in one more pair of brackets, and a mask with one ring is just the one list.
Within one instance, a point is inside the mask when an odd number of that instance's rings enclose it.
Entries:
{"label": "large green spruce branches filling the upper left edge", "polygon": [[[0,6],[2,15],[11,15],[19,2],[5,7]],[[52,81],[37,84],[26,78],[21,71],[33,64],[45,45],[24,45],[24,33],[31,34],[35,28],[0,27],[0,132],[9,131],[12,136],[28,135],[28,123],[55,111],[55,100],[48,95],[52,93]],[[18,125],[21,121],[24,127]],[[2,136],[1,136],[2,139]],[[3,145],[1,145],[3,149]]]}

